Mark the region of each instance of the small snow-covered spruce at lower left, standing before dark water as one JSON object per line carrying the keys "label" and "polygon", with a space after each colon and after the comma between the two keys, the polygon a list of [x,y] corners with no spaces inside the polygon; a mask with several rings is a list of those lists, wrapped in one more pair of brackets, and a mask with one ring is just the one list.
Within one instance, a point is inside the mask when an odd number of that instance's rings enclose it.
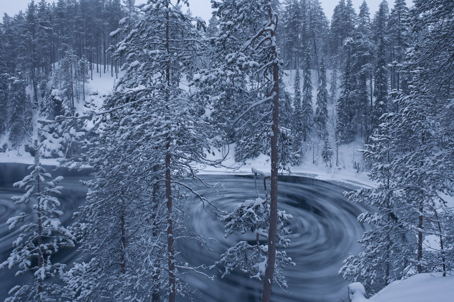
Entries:
{"label": "small snow-covered spruce at lower left, standing before dark water", "polygon": [[7,221],[10,230],[21,225],[21,234],[13,242],[14,249],[8,260],[0,264],[0,268],[19,267],[16,275],[33,273],[33,276],[12,288],[11,297],[5,302],[65,300],[64,289],[56,283],[65,264],[53,263],[52,256],[64,247],[74,247],[74,236],[58,218],[63,212],[59,210],[60,201],[55,195],[59,195],[63,187],[56,185],[63,177],[48,180],[51,176],[39,162],[41,146],[35,140],[35,160],[29,167],[31,173],[14,184],[26,192],[12,197],[12,200],[32,208],[30,212],[22,212]]}

